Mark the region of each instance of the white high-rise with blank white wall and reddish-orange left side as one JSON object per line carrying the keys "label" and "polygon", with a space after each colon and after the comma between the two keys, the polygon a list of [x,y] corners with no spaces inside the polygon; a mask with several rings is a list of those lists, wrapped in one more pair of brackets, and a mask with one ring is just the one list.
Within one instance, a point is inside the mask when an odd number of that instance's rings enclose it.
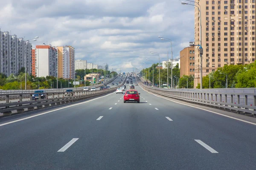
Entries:
{"label": "white high-rise with blank white wall and reddish-orange left side", "polygon": [[35,69],[37,77],[56,77],[57,49],[55,47],[52,47],[51,45],[36,45],[35,68],[32,67],[32,70],[33,69]]}

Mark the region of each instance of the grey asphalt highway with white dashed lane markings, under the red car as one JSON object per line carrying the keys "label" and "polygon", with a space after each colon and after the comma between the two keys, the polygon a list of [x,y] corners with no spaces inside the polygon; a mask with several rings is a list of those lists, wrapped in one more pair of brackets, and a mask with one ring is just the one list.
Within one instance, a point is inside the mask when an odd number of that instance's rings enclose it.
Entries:
{"label": "grey asphalt highway with white dashed lane markings, under the red car", "polygon": [[231,119],[135,88],[140,103],[123,103],[123,95],[113,93],[0,119],[0,169],[256,168],[256,124],[241,121],[243,115]]}

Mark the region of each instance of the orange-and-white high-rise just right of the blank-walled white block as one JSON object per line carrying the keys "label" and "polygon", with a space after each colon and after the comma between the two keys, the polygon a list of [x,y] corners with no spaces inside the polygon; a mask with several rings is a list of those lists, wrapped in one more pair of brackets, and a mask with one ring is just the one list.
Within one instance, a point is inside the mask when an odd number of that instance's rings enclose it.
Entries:
{"label": "orange-and-white high-rise just right of the blank-walled white block", "polygon": [[75,48],[57,47],[58,77],[73,79],[75,77]]}

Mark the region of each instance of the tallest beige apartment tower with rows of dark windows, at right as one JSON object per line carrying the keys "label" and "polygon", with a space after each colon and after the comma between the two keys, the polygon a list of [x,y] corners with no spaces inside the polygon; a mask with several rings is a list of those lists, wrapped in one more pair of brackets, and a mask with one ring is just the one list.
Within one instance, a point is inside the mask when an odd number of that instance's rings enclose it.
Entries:
{"label": "tallest beige apartment tower with rows of dark windows, at right", "polygon": [[[255,61],[256,0],[196,0],[201,6],[203,73],[224,65]],[[198,5],[195,3],[195,5]],[[200,12],[195,7],[195,43],[200,40]],[[200,55],[195,47],[195,81],[200,83]]]}

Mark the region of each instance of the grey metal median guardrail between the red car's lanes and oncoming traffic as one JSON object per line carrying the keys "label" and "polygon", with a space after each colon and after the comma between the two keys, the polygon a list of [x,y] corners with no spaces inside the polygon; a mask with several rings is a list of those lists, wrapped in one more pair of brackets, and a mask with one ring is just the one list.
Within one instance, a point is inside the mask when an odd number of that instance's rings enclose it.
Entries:
{"label": "grey metal median guardrail between the red car's lanes and oncoming traffic", "polygon": [[[17,111],[17,113],[23,113],[25,108],[28,108],[29,111],[33,111],[36,108],[41,109],[43,108],[48,108],[50,106],[55,106],[55,105],[61,105],[69,102],[75,102],[83,99],[88,99],[91,97],[95,96],[102,96],[105,94],[109,94],[111,92],[116,91],[116,88],[121,87],[122,85],[125,84],[124,79],[122,83],[114,88],[110,88],[107,90],[96,90],[96,91],[84,91],[84,90],[79,90],[79,91],[73,91],[73,96],[67,96],[64,97],[65,92],[46,92],[46,93],[41,93],[46,95],[46,99],[39,99],[38,100],[32,100],[32,95],[35,93],[21,93],[21,94],[0,94],[0,95],[6,95],[6,103],[5,104],[0,104],[0,113],[3,113],[4,115],[11,115],[12,111]],[[62,97],[60,97],[60,94],[62,94]],[[9,103],[9,97],[12,95],[18,95],[20,101],[18,102],[12,102]],[[30,100],[29,101],[22,101],[22,96],[23,95],[29,95]],[[48,99],[48,96],[53,96],[51,99]],[[57,97],[55,98],[55,95]]]}

